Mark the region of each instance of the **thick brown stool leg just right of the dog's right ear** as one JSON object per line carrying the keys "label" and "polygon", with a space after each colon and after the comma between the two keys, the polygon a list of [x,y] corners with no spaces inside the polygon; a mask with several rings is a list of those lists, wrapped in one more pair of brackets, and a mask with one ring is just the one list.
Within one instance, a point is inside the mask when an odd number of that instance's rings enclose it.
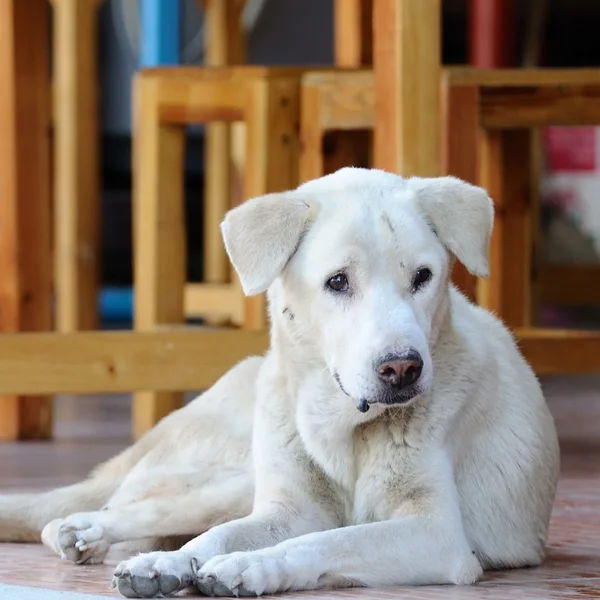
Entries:
{"label": "thick brown stool leg just right of the dog's right ear", "polygon": [[531,132],[482,134],[481,185],[496,203],[490,277],[478,282],[479,304],[509,327],[531,324],[532,204]]}

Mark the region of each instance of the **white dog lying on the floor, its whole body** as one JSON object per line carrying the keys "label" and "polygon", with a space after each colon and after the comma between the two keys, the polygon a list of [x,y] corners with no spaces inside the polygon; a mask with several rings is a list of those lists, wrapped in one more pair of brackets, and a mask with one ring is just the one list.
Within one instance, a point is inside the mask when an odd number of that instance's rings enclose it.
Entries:
{"label": "white dog lying on the floor, its whole body", "polygon": [[449,285],[454,258],[487,274],[492,222],[480,188],[363,169],[232,210],[243,288],[268,290],[267,355],[87,481],[0,498],[0,536],[46,526],[63,557],[99,562],[117,542],[201,533],[121,563],[128,597],[467,584],[538,565],[554,423],[510,333]]}

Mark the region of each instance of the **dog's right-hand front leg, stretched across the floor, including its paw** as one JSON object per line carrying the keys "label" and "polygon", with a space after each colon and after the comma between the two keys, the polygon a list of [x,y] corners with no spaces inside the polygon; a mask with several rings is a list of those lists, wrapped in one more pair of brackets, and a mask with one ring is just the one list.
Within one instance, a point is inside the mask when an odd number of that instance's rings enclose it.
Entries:
{"label": "dog's right-hand front leg, stretched across the floor, including its paw", "polygon": [[[439,479],[438,479],[439,483]],[[417,512],[309,533],[277,546],[208,561],[196,574],[207,595],[260,595],[339,586],[467,584],[481,565],[464,533],[454,483]]]}

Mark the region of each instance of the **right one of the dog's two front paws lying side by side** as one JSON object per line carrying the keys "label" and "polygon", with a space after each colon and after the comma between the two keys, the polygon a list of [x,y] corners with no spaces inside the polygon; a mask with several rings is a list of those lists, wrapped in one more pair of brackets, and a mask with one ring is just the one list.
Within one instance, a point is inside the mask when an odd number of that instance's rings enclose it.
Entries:
{"label": "right one of the dog's two front paws lying side by side", "polygon": [[206,596],[260,596],[313,587],[301,572],[290,571],[285,554],[272,549],[217,556],[197,571],[196,585]]}

